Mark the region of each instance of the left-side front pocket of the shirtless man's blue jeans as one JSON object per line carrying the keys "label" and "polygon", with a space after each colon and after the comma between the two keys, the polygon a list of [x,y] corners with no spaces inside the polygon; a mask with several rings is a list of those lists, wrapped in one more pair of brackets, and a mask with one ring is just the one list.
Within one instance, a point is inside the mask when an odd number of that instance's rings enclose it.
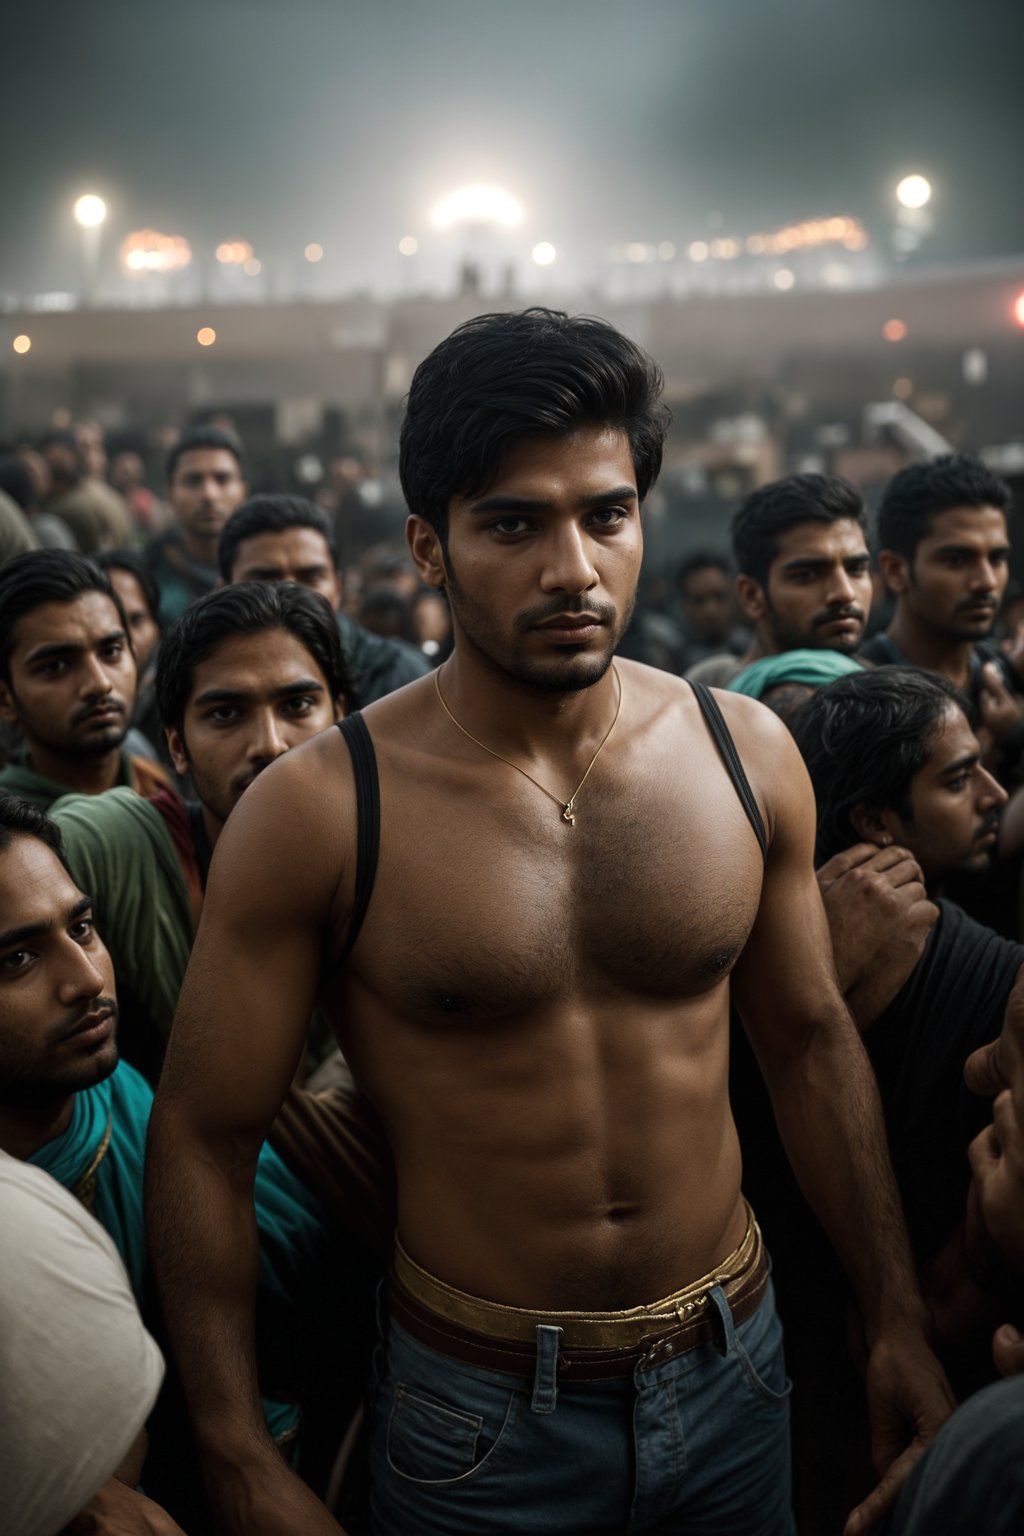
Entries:
{"label": "left-side front pocket of the shirtless man's blue jeans", "polygon": [[474,1478],[511,1428],[514,1410],[510,1393],[497,1436],[487,1444],[477,1413],[464,1413],[398,1382],[387,1425],[388,1467],[408,1482],[441,1485]]}

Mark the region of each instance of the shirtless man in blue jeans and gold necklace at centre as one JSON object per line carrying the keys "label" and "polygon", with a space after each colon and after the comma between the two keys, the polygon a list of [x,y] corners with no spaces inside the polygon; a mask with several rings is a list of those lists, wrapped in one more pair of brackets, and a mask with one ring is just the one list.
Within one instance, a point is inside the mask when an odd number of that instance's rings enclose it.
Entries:
{"label": "shirtless man in blue jeans and gold necklace at centre", "polygon": [[289,753],[224,828],[149,1218],[230,1533],[338,1531],[275,1458],[252,1366],[253,1163],[316,997],[398,1167],[382,1536],[792,1530],[780,1330],[726,1094],[731,975],[860,1298],[880,1470],[950,1410],[832,974],[800,757],[723,696],[752,791],[735,765],[731,782],[709,696],[613,667],[659,393],[600,321],[487,315],[442,343],[410,392],[402,484],[454,653],[345,742]]}

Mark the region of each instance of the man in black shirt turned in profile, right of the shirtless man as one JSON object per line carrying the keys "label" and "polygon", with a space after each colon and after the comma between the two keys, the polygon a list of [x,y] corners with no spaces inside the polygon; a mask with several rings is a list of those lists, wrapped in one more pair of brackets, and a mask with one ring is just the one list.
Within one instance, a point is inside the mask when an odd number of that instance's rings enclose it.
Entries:
{"label": "man in black shirt turned in profile, right of the shirtless man", "polygon": [[818,805],[837,971],[878,1074],[913,1244],[930,1258],[967,1195],[979,1106],[970,1112],[963,1066],[998,1035],[1024,974],[1021,945],[940,892],[958,871],[990,868],[1006,791],[981,763],[963,694],[938,674],[843,677],[792,733]]}

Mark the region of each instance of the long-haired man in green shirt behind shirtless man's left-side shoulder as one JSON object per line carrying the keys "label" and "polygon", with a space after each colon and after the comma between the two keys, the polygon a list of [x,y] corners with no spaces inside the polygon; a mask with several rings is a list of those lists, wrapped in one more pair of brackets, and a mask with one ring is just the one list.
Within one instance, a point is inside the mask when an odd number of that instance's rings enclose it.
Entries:
{"label": "long-haired man in green shirt behind shirtless man's left-side shoulder", "polygon": [[157,670],[169,751],[198,799],[115,793],[54,808],[114,954],[124,1054],[150,1081],[224,822],[264,768],[339,717],[347,690],[336,625],[309,591],[250,582],[210,593],[167,631]]}

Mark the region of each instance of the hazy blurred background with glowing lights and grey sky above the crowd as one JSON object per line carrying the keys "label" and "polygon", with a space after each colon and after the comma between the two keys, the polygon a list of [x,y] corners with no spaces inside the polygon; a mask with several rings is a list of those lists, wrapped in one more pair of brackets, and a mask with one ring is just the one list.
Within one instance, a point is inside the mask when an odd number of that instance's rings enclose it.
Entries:
{"label": "hazy blurred background with glowing lights and grey sky above the crowd", "polygon": [[5,34],[6,450],[97,422],[160,492],[224,419],[375,542],[419,358],[547,303],[665,369],[654,574],[788,470],[1024,476],[1013,0],[40,0]]}

